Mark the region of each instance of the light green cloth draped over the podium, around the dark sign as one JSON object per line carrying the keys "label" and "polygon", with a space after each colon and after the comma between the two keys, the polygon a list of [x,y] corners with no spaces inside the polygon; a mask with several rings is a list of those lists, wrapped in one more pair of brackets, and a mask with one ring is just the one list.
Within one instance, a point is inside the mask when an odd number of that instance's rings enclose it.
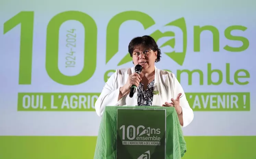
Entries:
{"label": "light green cloth draped over the podium, around the dark sign", "polygon": [[[106,106],[100,122],[94,159],[117,159],[117,112],[120,108],[153,110],[165,109],[166,159],[181,159],[181,157],[183,157],[186,152],[186,142],[174,107]],[[151,157],[151,159],[154,158]]]}

